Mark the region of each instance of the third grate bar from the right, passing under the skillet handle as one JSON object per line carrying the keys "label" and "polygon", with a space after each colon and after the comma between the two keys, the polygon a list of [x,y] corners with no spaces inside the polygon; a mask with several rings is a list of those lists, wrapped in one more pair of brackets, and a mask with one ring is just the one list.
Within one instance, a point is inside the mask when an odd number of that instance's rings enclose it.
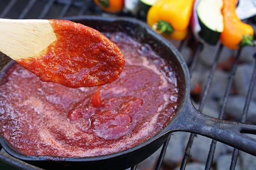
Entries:
{"label": "third grate bar from the right, passing under the skillet handle", "polygon": [[[199,108],[198,108],[198,110],[200,112],[203,110],[204,104],[206,102],[206,98],[208,96],[210,86],[212,84],[212,79],[213,79],[214,73],[217,69],[217,64],[218,64],[218,61],[219,61],[219,58],[220,58],[222,48],[223,48],[223,45],[219,45],[216,56],[215,56],[214,61],[213,61],[213,65],[212,65],[210,74],[208,75],[206,84],[204,86],[202,97],[201,97],[201,100],[200,100],[200,103],[199,103]],[[193,133],[190,134],[189,141],[187,142],[186,150],[185,150],[185,153],[184,153],[184,156],[183,156],[183,159],[182,159],[182,163],[181,163],[181,166],[180,166],[180,170],[184,170],[186,168],[187,159],[190,157],[190,149],[192,147],[195,136],[196,136],[196,134],[193,134]]]}

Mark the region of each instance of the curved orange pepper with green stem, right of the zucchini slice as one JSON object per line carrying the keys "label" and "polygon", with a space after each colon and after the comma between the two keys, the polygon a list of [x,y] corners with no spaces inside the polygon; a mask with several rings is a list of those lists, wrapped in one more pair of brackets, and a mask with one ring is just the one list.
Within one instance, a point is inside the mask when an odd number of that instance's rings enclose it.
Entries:
{"label": "curved orange pepper with green stem, right of the zucchini slice", "polygon": [[237,50],[239,47],[253,45],[254,30],[243,23],[235,13],[237,0],[223,0],[222,15],[224,30],[220,41],[226,47]]}

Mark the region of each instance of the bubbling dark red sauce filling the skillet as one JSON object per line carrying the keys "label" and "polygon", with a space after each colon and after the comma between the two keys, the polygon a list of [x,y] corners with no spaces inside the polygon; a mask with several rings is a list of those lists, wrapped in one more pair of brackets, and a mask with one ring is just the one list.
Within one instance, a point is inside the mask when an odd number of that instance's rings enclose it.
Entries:
{"label": "bubbling dark red sauce filling the skillet", "polygon": [[163,129],[177,107],[175,72],[147,44],[106,33],[125,57],[120,77],[72,89],[40,81],[17,63],[0,79],[0,134],[25,155],[88,157],[126,150]]}

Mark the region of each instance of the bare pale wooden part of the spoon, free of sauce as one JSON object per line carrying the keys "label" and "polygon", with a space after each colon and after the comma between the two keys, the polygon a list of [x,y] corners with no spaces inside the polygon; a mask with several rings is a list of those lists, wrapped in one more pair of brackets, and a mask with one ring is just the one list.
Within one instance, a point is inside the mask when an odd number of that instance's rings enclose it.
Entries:
{"label": "bare pale wooden part of the spoon, free of sauce", "polygon": [[0,51],[14,60],[35,57],[55,40],[48,20],[0,19]]}

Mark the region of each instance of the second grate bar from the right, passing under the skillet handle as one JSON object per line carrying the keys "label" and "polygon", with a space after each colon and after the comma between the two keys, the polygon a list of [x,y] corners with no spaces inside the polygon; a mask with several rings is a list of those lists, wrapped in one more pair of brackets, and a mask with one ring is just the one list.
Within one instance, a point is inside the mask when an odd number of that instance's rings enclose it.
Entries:
{"label": "second grate bar from the right, passing under the skillet handle", "polygon": [[[241,54],[241,49],[238,50],[238,52],[236,54],[236,58],[235,58],[235,63],[233,64],[232,69],[229,73],[229,82],[228,82],[226,91],[225,91],[224,96],[223,96],[221,110],[219,111],[219,117],[218,117],[219,119],[223,119],[223,116],[224,116],[224,111],[225,111],[227,102],[229,100],[229,93],[230,93],[230,90],[231,90],[231,87],[232,87],[232,84],[233,84],[233,80],[234,80],[234,76],[235,76],[235,72],[236,72],[236,68],[237,68],[237,65],[238,65],[238,60],[239,60],[240,54]],[[216,143],[217,143],[216,140],[212,140],[210,150],[209,150],[209,154],[208,154],[208,157],[207,157],[205,170],[210,170],[210,167],[211,167],[212,162],[213,162]]]}

